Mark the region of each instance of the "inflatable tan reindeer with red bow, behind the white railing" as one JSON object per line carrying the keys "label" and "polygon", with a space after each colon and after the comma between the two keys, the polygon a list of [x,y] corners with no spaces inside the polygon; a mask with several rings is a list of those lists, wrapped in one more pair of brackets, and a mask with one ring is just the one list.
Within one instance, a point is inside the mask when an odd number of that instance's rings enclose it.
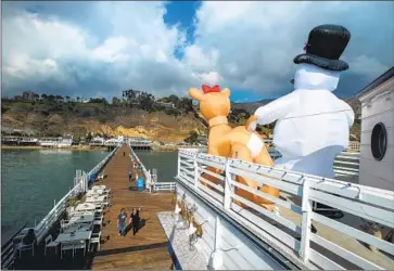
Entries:
{"label": "inflatable tan reindeer with red bow, behind the white railing", "polygon": [[[274,166],[274,162],[264,144],[262,137],[257,132],[249,130],[249,122],[245,126],[231,128],[228,125],[227,116],[230,113],[230,90],[223,89],[220,91],[218,86],[209,88],[202,86],[202,90],[190,89],[189,94],[200,102],[201,114],[206,118],[209,124],[208,132],[208,154],[223,157],[231,157],[244,162],[251,162],[259,165]],[[221,175],[220,169],[208,167],[207,170]],[[204,178],[215,184],[219,181],[211,175],[204,175]],[[254,188],[259,189],[258,183],[246,179],[237,177],[237,181]],[[208,189],[205,182],[200,181]],[[279,190],[268,185],[263,185],[260,191],[271,196],[279,197]],[[266,198],[256,196],[247,191],[238,189],[236,194],[244,197],[252,203],[255,203],[270,211],[274,209],[274,203]],[[238,203],[239,204],[239,203]]]}

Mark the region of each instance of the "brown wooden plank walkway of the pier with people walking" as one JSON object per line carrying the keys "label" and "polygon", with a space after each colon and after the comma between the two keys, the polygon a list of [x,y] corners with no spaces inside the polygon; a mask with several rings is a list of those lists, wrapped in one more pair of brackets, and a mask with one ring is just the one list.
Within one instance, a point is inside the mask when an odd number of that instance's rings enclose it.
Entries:
{"label": "brown wooden plank walkway of the pier with people walking", "polygon": [[[173,209],[171,193],[136,191],[136,181],[128,181],[128,172],[132,168],[129,154],[128,146],[120,147],[104,168],[106,177],[97,183],[112,190],[113,205],[104,215],[103,241],[100,251],[92,259],[91,269],[170,269],[173,261],[167,249],[168,240],[156,212]],[[138,169],[134,169],[134,175],[136,171]],[[125,237],[119,236],[117,215],[120,208],[126,209],[129,218],[131,209],[139,207],[140,230],[136,235],[129,231]]]}

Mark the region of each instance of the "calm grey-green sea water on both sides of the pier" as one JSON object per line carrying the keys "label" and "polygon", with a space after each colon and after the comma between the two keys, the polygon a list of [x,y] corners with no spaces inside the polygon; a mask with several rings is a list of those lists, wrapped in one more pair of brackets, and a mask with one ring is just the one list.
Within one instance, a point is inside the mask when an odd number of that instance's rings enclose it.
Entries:
{"label": "calm grey-green sea water on both sides of the pier", "polygon": [[[147,168],[156,168],[158,181],[171,182],[177,152],[137,152]],[[107,152],[52,150],[1,151],[1,225],[34,225],[74,184],[75,170],[89,171]],[[15,228],[15,227],[13,227]]]}

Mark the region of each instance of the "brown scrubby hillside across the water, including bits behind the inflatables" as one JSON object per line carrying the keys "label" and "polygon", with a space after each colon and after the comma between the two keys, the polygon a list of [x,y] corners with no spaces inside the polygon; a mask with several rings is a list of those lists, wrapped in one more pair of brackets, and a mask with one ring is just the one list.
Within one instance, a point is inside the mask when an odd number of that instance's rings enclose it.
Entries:
{"label": "brown scrubby hillside across the water, including bits behind the inflatables", "polygon": [[[41,95],[42,96],[42,95]],[[92,99],[89,103],[79,103],[54,99],[39,101],[2,100],[2,127],[33,131],[36,136],[62,136],[73,133],[75,138],[91,136],[144,137],[154,141],[181,142],[192,131],[207,133],[207,124],[191,105],[190,99],[175,95],[162,99],[175,104],[175,108],[161,108],[154,105],[154,98],[143,95],[137,103],[113,99],[107,103],[102,99]],[[231,126],[243,125],[253,112],[271,100],[254,103],[233,103],[229,122]],[[359,114],[357,99],[345,99]],[[269,136],[274,125],[263,127],[259,132]],[[352,128],[352,139],[359,140],[359,122]]]}

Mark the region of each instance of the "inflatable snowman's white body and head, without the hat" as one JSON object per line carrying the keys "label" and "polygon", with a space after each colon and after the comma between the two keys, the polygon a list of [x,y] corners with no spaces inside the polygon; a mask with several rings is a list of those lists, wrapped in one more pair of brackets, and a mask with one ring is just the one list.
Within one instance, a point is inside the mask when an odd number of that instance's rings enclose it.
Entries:
{"label": "inflatable snowman's white body and head, without the hat", "polygon": [[258,124],[278,120],[274,144],[282,157],[276,167],[333,178],[333,162],[348,146],[354,112],[331,91],[336,89],[339,73],[301,64],[295,73],[295,90],[255,115]]}

